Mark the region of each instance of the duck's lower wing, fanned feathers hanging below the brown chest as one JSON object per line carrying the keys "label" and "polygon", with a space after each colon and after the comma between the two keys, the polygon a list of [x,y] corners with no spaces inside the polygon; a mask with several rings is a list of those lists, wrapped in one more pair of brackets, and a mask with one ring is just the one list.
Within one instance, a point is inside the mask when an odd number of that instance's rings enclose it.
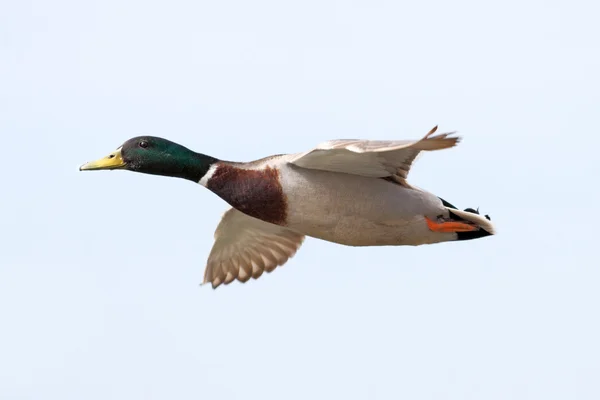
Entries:
{"label": "duck's lower wing, fanned feathers hanging below the brown chest", "polygon": [[204,283],[213,288],[234,279],[246,282],[271,272],[291,258],[304,235],[291,229],[229,209],[217,226],[215,243],[208,256]]}

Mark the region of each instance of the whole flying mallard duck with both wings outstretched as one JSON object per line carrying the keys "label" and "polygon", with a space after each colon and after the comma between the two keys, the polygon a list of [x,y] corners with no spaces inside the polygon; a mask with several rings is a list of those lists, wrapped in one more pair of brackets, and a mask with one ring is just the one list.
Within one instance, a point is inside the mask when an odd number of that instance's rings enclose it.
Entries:
{"label": "whole flying mallard duck with both wings outstretched", "polygon": [[455,146],[453,133],[420,140],[332,140],[297,154],[229,162],[139,136],[81,171],[125,169],[183,178],[232,208],[215,231],[204,283],[246,282],[292,257],[305,236],[348,246],[422,245],[494,234],[489,217],[410,185],[421,151]]}

